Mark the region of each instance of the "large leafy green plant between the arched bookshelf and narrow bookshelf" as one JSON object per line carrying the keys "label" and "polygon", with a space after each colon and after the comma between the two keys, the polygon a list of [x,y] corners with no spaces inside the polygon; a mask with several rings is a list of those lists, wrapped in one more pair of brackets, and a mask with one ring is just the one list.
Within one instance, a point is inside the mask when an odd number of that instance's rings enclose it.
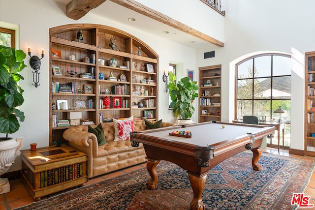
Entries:
{"label": "large leafy green plant between the arched bookshelf and narrow bookshelf", "polygon": [[192,101],[198,97],[197,82],[184,77],[176,84],[176,76],[170,72],[168,90],[172,101],[170,107],[173,108],[174,116],[181,120],[190,119],[195,112]]}

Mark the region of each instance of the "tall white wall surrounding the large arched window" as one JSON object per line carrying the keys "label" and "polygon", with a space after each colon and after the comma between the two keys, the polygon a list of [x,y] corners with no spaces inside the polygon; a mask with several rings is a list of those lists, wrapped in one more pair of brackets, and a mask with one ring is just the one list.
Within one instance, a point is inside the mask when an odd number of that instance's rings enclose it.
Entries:
{"label": "tall white wall surrounding the large arched window", "polygon": [[[315,51],[315,1],[227,0],[224,47],[200,49],[197,66],[222,64],[222,120],[234,118],[235,63],[245,55],[279,51],[292,56],[291,148],[304,150],[304,55]],[[203,53],[216,51],[216,58]]]}

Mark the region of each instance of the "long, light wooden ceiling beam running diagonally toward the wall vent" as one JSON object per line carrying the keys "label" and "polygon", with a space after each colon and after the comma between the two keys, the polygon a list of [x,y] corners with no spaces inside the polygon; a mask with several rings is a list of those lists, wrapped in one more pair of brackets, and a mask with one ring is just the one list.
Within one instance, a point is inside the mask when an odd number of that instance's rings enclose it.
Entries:
{"label": "long, light wooden ceiling beam running diagonally toward the wall vent", "polygon": [[136,11],[142,15],[145,15],[147,17],[150,17],[154,20],[157,20],[158,22],[161,22],[163,24],[166,24],[170,27],[173,27],[177,30],[181,30],[185,33],[188,33],[192,36],[195,36],[197,38],[200,38],[204,41],[207,41],[211,44],[214,44],[214,45],[217,45],[219,47],[223,47],[224,46],[224,43],[205,34],[205,33],[202,33],[200,32],[199,30],[195,30],[195,29],[192,29],[191,27],[177,21],[177,20],[174,20],[154,9],[151,9],[137,1],[134,1],[134,0],[111,0],[112,2],[115,2],[117,4],[120,4],[128,9],[131,9],[133,11]]}

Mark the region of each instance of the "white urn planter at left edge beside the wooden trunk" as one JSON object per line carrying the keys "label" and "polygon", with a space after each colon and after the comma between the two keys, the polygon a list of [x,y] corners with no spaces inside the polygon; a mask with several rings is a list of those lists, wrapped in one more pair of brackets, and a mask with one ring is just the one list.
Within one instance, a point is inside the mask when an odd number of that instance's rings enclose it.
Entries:
{"label": "white urn planter at left edge beside the wooden trunk", "polygon": [[[23,138],[0,140],[0,177],[7,172],[20,150],[23,147]],[[0,178],[0,194],[10,192],[10,183],[7,178]]]}

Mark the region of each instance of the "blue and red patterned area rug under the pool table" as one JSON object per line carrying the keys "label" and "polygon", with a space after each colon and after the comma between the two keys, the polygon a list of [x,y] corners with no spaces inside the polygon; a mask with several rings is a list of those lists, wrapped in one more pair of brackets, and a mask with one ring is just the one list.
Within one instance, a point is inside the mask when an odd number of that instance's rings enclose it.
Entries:
{"label": "blue and red patterned area rug under the pool table", "polygon": [[[295,210],[293,193],[302,193],[314,161],[263,153],[252,170],[252,152],[237,154],[208,174],[202,194],[206,210]],[[158,186],[148,190],[147,170],[140,169],[97,184],[35,202],[19,210],[189,210],[188,175],[175,164],[158,164]]]}

